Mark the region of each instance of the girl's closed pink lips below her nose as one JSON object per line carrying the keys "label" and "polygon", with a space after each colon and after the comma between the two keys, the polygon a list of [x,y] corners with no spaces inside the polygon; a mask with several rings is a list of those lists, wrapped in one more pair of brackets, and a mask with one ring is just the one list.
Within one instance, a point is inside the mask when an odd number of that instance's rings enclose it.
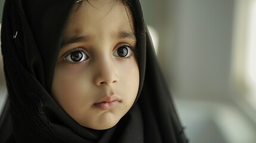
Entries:
{"label": "girl's closed pink lips below her nose", "polygon": [[94,103],[94,107],[100,108],[101,110],[110,110],[118,107],[121,104],[121,100],[115,95],[103,97],[100,101]]}

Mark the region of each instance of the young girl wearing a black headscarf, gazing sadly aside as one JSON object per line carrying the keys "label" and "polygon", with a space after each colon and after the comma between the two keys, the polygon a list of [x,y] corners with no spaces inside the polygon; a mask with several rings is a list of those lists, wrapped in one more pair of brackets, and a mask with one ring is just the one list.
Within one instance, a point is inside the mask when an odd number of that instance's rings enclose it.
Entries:
{"label": "young girl wearing a black headscarf, gazing sadly aside", "polygon": [[0,142],[187,142],[138,0],[5,2]]}

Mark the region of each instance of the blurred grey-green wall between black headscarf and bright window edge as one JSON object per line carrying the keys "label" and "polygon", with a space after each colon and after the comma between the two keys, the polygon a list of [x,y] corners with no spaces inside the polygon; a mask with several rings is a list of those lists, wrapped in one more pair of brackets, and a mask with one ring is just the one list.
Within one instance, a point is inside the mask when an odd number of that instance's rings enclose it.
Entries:
{"label": "blurred grey-green wall between black headscarf and bright window edge", "polygon": [[146,22],[159,30],[159,60],[174,96],[226,100],[233,0],[142,3],[144,11],[150,11]]}

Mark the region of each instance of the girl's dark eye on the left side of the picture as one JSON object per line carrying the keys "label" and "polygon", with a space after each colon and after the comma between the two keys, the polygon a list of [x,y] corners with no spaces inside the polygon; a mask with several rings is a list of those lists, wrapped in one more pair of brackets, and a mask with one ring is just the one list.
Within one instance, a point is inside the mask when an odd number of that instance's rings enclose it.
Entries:
{"label": "girl's dark eye on the left side of the picture", "polygon": [[83,51],[73,51],[70,52],[64,60],[70,62],[70,63],[80,63],[84,60],[87,60],[88,56]]}

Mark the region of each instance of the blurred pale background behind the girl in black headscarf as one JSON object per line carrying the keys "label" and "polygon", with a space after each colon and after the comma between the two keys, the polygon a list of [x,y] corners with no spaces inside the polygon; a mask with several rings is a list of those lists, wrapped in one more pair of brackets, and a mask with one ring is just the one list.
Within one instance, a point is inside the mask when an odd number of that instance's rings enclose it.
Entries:
{"label": "blurred pale background behind the girl in black headscarf", "polygon": [[255,1],[141,0],[191,143],[256,142]]}

